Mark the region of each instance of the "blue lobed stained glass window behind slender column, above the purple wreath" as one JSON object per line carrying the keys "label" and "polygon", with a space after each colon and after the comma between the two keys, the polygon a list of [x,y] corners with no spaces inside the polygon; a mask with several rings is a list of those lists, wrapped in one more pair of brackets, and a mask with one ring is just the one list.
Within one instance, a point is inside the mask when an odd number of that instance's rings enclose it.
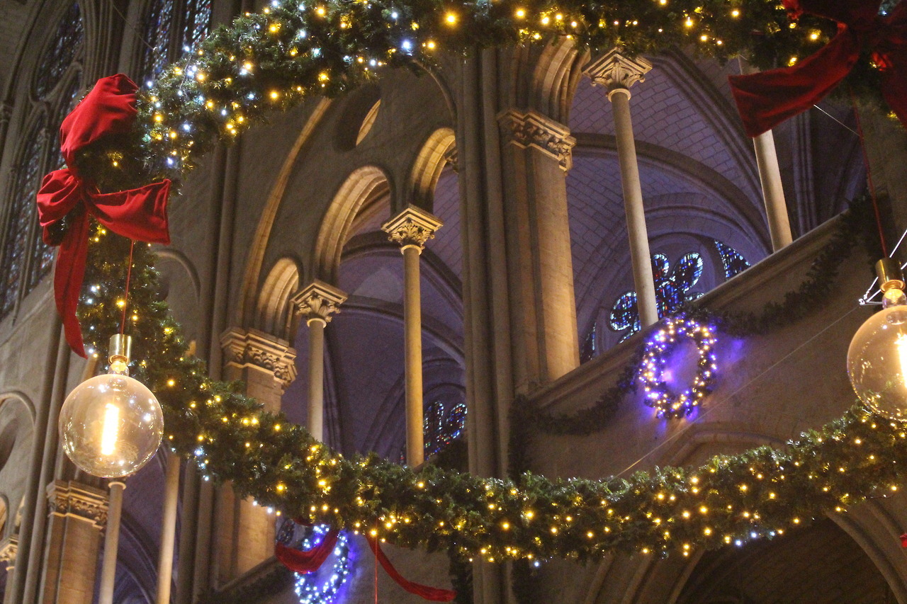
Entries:
{"label": "blue lobed stained glass window behind slender column, above the purple wreath", "polygon": [[[658,317],[665,317],[678,310],[685,303],[702,296],[691,291],[702,277],[705,262],[697,252],[689,252],[671,268],[664,254],[652,256],[652,276],[655,278],[655,300]],[[621,294],[611,306],[609,326],[613,331],[625,331],[620,341],[639,331],[639,309],[635,291]]]}

